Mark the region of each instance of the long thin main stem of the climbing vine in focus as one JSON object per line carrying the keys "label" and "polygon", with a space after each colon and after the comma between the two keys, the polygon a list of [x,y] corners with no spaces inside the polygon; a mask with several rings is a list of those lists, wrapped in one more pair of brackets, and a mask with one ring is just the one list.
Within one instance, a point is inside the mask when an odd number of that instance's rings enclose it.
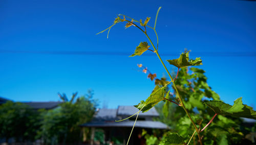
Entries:
{"label": "long thin main stem of the climbing vine in focus", "polygon": [[184,104],[183,104],[183,102],[182,102],[182,98],[181,98],[181,96],[180,96],[180,94],[179,94],[179,92],[178,92],[178,89],[177,89],[177,87],[176,87],[176,85],[175,85],[175,82],[174,82],[173,77],[170,75],[170,72],[168,71],[168,69],[166,68],[165,64],[163,63],[161,57],[159,56],[159,54],[158,54],[158,52],[157,52],[157,50],[156,50],[156,47],[154,46],[153,42],[151,41],[150,37],[148,37],[148,35],[147,35],[146,33],[144,33],[144,34],[146,35],[146,37],[148,38],[148,40],[150,40],[150,42],[151,42],[152,46],[154,47],[154,50],[155,50],[155,52],[156,52],[156,54],[157,54],[159,60],[161,61],[161,63],[162,63],[162,65],[163,65],[164,69],[166,70],[168,76],[169,76],[170,79],[172,80],[173,85],[174,85],[174,88],[175,88],[175,90],[176,90],[176,92],[177,92],[177,94],[178,94],[178,97],[179,97],[179,99],[180,99],[181,107],[184,109],[184,111],[186,112],[186,114],[187,114],[188,118],[190,119],[191,123],[192,123],[193,126],[195,127],[195,129],[196,129],[196,131],[197,131],[197,134],[198,134],[198,138],[199,138],[200,144],[202,145],[203,143],[202,143],[202,140],[201,140],[200,132],[199,132],[199,130],[198,130],[196,124],[194,123],[193,119],[192,119],[191,116],[189,115],[189,113],[188,113],[186,107],[184,106]]}

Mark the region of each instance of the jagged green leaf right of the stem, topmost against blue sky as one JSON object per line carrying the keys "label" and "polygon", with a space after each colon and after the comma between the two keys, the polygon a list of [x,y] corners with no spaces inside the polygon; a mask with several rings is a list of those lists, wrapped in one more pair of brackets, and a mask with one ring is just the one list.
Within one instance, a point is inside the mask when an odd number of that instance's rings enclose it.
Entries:
{"label": "jagged green leaf right of the stem, topmost against blue sky", "polygon": [[188,52],[182,53],[180,55],[180,58],[173,59],[173,60],[167,60],[171,65],[174,65],[178,68],[186,67],[186,66],[195,66],[195,65],[202,65],[202,60],[199,58],[196,58],[195,60],[190,59],[188,57]]}

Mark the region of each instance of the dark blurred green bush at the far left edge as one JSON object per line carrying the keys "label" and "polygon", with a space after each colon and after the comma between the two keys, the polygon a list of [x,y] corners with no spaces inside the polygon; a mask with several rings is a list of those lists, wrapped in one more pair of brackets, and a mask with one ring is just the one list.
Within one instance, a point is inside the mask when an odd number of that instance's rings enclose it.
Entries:
{"label": "dark blurred green bush at the far left edge", "polygon": [[17,142],[34,141],[38,115],[30,106],[8,101],[0,106],[0,138]]}

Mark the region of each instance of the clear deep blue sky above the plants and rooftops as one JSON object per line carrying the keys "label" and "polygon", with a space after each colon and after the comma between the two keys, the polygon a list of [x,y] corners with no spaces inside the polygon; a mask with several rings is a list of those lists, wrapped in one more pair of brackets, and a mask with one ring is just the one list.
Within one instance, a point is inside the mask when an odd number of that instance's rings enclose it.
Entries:
{"label": "clear deep blue sky above the plants and rooftops", "polygon": [[[14,101],[58,101],[89,88],[109,108],[145,100],[154,84],[137,63],[161,77],[152,52],[130,56],[146,37],[116,14],[154,19],[163,60],[184,48],[201,57],[208,84],[227,103],[243,96],[255,109],[256,3],[251,1],[0,1],[0,96]],[[149,32],[156,41],[155,35]],[[77,53],[78,52],[78,53]],[[79,55],[80,52],[80,55]],[[81,54],[82,52],[82,54]],[[62,53],[62,54],[60,54]],[[73,53],[73,54],[72,54]],[[111,55],[111,54],[114,55]],[[168,65],[169,69],[172,66]]]}

